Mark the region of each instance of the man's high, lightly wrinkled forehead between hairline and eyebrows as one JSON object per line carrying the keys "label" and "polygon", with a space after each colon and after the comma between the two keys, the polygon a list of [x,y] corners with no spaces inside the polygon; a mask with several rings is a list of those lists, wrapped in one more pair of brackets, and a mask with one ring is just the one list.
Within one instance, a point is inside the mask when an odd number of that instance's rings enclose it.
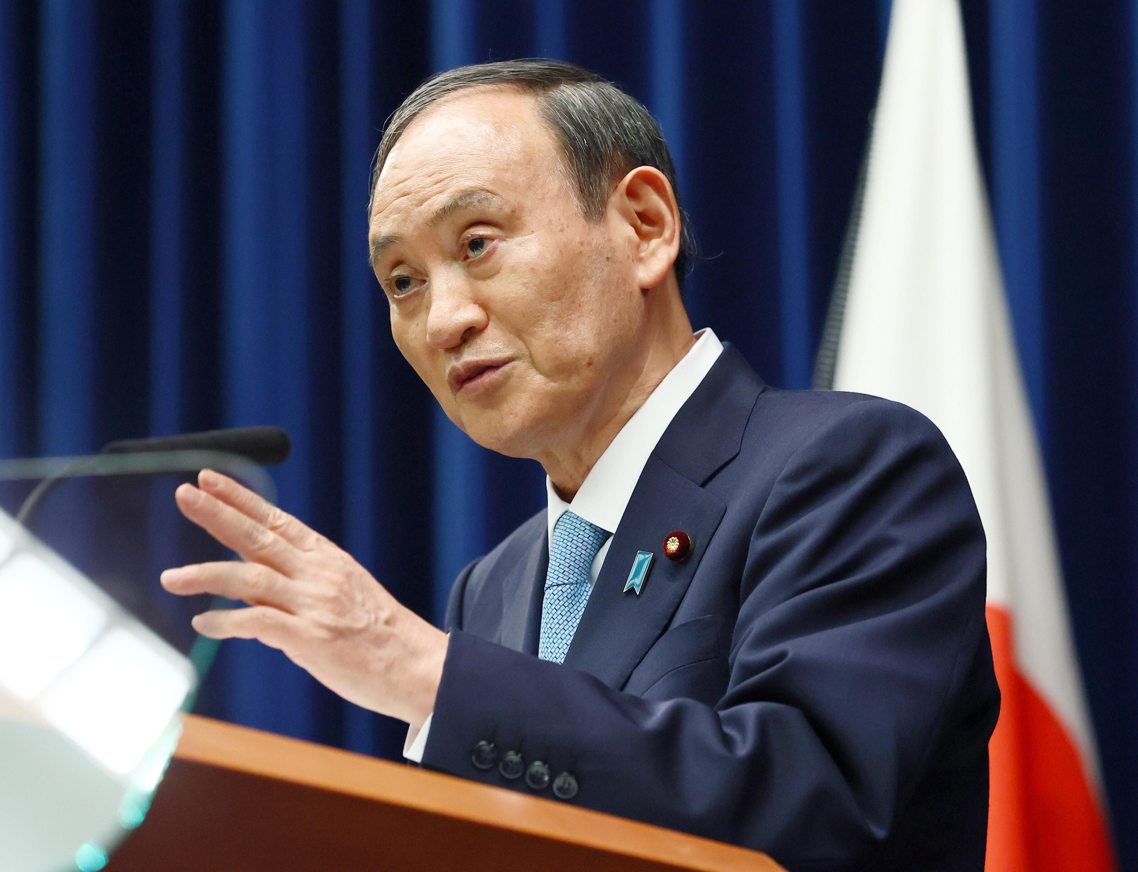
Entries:
{"label": "man's high, lightly wrinkled forehead between hairline and eyebrows", "polygon": [[373,222],[454,188],[525,197],[562,175],[556,140],[531,94],[469,90],[430,106],[391,148],[372,192]]}

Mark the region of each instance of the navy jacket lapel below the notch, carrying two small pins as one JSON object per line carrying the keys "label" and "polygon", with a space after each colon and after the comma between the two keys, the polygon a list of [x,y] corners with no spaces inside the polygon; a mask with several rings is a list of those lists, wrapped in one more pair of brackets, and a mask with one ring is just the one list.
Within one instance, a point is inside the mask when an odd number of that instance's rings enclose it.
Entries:
{"label": "navy jacket lapel below the notch, carrying two small pins", "polygon": [[[616,690],[622,688],[671,620],[726,508],[658,458],[649,458],[569,645],[566,666],[591,673]],[[692,553],[682,562],[663,557],[665,537],[674,529],[692,537]],[[654,554],[640,595],[624,592],[637,551]]]}

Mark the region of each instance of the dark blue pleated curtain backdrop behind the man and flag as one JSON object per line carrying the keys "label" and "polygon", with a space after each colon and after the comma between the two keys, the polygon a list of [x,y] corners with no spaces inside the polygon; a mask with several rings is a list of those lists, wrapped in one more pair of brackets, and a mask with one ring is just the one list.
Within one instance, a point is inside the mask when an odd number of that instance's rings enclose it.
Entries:
{"label": "dark blue pleated curtain backdrop behind the man and flag", "polygon": [[[1138,869],[1138,9],[965,0],[978,140],[1123,867]],[[887,2],[0,0],[0,454],[242,423],[284,508],[438,618],[543,503],[452,427],[365,262],[369,162],[432,71],[543,55],[660,120],[693,322],[809,385]],[[403,727],[226,643],[201,710],[395,756]]]}

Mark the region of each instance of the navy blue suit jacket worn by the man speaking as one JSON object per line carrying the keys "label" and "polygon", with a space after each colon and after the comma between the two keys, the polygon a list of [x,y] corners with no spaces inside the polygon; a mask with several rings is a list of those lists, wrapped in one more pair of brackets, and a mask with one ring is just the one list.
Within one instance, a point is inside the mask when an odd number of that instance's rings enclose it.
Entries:
{"label": "navy blue suit jacket worn by the man speaking", "polygon": [[[637,551],[657,556],[638,597]],[[456,581],[424,766],[533,792],[475,767],[493,742],[571,773],[575,804],[790,870],[983,869],[984,535],[927,419],[776,390],[727,346],[652,452],[563,665],[536,657],[546,561],[542,512]]]}

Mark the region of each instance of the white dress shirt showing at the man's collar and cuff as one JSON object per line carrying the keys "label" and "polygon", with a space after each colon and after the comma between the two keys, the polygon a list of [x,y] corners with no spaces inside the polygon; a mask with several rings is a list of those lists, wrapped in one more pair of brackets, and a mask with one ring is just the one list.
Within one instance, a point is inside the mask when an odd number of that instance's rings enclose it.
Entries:
{"label": "white dress shirt showing at the man's collar and cuff", "polygon": [[[723,353],[723,344],[711,328],[704,328],[695,334],[695,344],[687,354],[673,367],[671,372],[657,385],[644,404],[620,428],[609,447],[604,450],[596,463],[589,470],[572,502],[566,502],[553,490],[553,483],[545,477],[545,493],[549,500],[550,542],[553,541],[553,525],[558,518],[572,510],[575,515],[589,524],[595,524],[609,533],[609,538],[596,552],[593,566],[588,573],[589,584],[596,584],[596,578],[604,566],[604,558],[612,543],[612,534],[620,526],[625,508],[632,499],[636,483],[640,480],[644,464],[655,449],[663,431],[668,429],[671,419],[681,410],[687,398],[695,392],[712,364]],[[434,713],[427,716],[422,729],[407,729],[407,739],[403,746],[403,756],[409,760],[422,763],[423,750],[427,748],[427,735]]]}

